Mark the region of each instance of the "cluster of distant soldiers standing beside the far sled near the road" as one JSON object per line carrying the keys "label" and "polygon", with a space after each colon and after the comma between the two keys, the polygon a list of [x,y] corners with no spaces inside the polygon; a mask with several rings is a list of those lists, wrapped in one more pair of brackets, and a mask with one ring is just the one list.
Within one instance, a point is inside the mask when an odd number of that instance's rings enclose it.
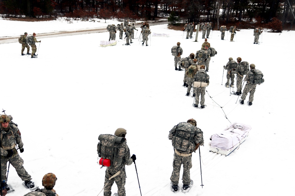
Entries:
{"label": "cluster of distant soldiers standing beside the far sled near the road", "polygon": [[[138,29],[136,29],[134,25],[134,23],[129,24],[129,20],[125,20],[124,24],[117,24],[117,27],[114,24],[108,25],[106,29],[109,31],[109,41],[116,39],[117,31],[119,31],[119,39],[123,39],[123,32],[125,32],[125,45],[130,45],[130,43],[133,43],[132,39],[134,39],[134,31],[138,31]],[[146,46],[148,46],[148,36],[151,33],[149,29],[149,24],[144,22],[142,23],[140,28],[142,35],[142,46],[144,45],[144,43]]]}

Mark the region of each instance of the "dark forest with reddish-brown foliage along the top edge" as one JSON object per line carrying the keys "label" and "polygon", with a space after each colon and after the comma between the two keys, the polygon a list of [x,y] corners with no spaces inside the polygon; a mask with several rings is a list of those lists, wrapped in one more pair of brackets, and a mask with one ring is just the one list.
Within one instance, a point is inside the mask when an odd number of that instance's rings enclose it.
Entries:
{"label": "dark forest with reddish-brown foliage along the top edge", "polygon": [[0,0],[0,16],[14,20],[52,20],[59,16],[73,20],[117,19],[156,21],[167,17],[171,26],[212,22],[236,25],[238,29],[257,26],[279,32],[293,29],[295,0]]}

